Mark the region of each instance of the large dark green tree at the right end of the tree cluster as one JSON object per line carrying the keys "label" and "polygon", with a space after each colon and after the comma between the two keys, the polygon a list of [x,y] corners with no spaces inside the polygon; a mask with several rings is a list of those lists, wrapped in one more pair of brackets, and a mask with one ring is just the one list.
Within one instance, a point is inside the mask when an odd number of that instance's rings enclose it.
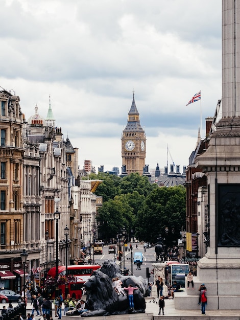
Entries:
{"label": "large dark green tree at the right end of the tree cluster", "polygon": [[[183,186],[161,187],[154,189],[147,196],[143,208],[138,211],[136,236],[142,240],[155,243],[159,234],[170,237],[165,228],[171,232],[170,241],[179,238],[181,226],[185,224],[186,190]],[[174,231],[174,233],[172,233]]]}

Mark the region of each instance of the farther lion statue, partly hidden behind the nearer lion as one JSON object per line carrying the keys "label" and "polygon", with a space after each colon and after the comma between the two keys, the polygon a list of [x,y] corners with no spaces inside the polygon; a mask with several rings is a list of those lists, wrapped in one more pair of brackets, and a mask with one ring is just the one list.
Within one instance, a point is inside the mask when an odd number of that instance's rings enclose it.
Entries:
{"label": "farther lion statue, partly hidden behind the nearer lion", "polygon": [[112,260],[105,260],[100,270],[110,279],[118,277],[124,287],[128,287],[131,284],[133,287],[138,287],[143,296],[149,295],[148,285],[141,276],[122,276],[119,266]]}

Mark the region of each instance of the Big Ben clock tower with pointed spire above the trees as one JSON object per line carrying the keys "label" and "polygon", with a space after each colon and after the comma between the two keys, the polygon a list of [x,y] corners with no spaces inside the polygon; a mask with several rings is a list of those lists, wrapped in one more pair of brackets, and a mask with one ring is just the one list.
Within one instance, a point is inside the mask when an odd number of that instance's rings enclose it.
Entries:
{"label": "Big Ben clock tower with pointed spire above the trees", "polygon": [[128,123],[122,134],[122,174],[138,172],[142,175],[146,158],[146,136],[140,125],[139,112],[134,100],[128,112]]}

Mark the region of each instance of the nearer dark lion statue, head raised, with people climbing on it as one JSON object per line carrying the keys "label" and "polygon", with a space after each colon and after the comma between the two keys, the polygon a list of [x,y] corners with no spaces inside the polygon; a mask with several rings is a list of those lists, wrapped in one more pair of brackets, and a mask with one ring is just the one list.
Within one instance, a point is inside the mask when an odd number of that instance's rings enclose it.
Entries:
{"label": "nearer dark lion statue, head raised, with people climbing on it", "polygon": [[100,270],[93,271],[84,287],[87,290],[88,311],[82,313],[82,317],[145,312],[145,299],[139,290],[134,290],[135,310],[130,310],[127,295],[117,295],[112,287],[112,280]]}

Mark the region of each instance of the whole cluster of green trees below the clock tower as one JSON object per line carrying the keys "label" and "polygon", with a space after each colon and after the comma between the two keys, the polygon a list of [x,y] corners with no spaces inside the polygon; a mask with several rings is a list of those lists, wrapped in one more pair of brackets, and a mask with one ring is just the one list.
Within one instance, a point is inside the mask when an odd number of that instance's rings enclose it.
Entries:
{"label": "whole cluster of green trees below the clock tower", "polygon": [[155,243],[161,234],[166,243],[177,243],[181,226],[185,225],[183,186],[159,188],[138,173],[123,178],[98,173],[91,174],[90,178],[103,180],[95,192],[103,196],[103,206],[96,219],[106,241],[115,239],[125,227],[129,237]]}

